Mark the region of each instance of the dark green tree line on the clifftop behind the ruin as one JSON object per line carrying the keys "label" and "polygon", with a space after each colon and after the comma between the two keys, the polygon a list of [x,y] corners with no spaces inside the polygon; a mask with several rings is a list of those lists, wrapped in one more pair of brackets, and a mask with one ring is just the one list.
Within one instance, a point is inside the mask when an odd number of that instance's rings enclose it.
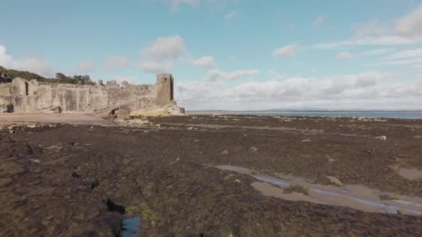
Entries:
{"label": "dark green tree line on the clifftop behind the ruin", "polygon": [[19,71],[15,69],[6,69],[5,67],[0,66],[0,70],[3,73],[6,73],[10,78],[25,78],[25,79],[35,79],[39,82],[53,82],[53,83],[68,83],[68,84],[78,84],[78,85],[95,85],[89,75],[74,75],[66,76],[63,73],[56,73],[56,78],[44,78],[43,76],[38,75],[37,73],[32,73],[30,71]]}

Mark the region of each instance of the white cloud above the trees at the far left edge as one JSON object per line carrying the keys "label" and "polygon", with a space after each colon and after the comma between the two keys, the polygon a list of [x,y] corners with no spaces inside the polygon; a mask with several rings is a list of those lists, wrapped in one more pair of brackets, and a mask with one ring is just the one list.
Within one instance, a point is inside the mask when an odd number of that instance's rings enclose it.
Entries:
{"label": "white cloud above the trees at the far left edge", "polygon": [[16,69],[31,71],[45,77],[53,77],[54,69],[42,58],[24,57],[21,60],[15,60],[6,53],[6,46],[0,45],[0,65],[7,69]]}

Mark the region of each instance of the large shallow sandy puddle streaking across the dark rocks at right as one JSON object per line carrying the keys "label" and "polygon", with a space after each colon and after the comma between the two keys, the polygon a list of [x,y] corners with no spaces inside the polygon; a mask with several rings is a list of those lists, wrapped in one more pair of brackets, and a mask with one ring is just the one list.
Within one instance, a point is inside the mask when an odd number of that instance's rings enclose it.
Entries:
{"label": "large shallow sandy puddle streaking across the dark rocks at right", "polygon": [[[216,168],[255,177],[259,182],[253,182],[252,186],[263,195],[275,198],[351,207],[361,211],[422,215],[422,198],[394,195],[362,185],[326,186],[311,184],[298,177],[289,177],[287,181],[267,175],[257,175],[248,168],[238,166],[216,166]],[[308,195],[284,193],[282,188],[287,188],[291,184],[306,187]],[[394,200],[380,200],[381,196],[394,197]]]}

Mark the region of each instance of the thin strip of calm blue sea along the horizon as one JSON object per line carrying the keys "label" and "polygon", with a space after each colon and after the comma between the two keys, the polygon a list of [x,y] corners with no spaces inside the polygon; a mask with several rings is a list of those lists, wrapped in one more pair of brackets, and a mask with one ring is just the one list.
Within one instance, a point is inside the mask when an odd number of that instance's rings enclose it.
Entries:
{"label": "thin strip of calm blue sea along the horizon", "polygon": [[422,119],[422,111],[418,112],[244,112],[242,114],[266,116],[347,116],[362,118],[397,118],[397,119]]}

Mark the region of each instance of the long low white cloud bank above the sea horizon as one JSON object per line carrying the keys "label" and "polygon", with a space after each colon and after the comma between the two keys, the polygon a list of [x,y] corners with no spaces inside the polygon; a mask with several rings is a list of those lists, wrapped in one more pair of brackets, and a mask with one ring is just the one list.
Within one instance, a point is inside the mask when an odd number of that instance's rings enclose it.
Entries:
{"label": "long low white cloud bank above the sea horizon", "polygon": [[287,78],[261,82],[226,80],[176,83],[175,98],[187,109],[419,108],[422,81],[394,82],[399,75],[367,71],[326,78]]}

